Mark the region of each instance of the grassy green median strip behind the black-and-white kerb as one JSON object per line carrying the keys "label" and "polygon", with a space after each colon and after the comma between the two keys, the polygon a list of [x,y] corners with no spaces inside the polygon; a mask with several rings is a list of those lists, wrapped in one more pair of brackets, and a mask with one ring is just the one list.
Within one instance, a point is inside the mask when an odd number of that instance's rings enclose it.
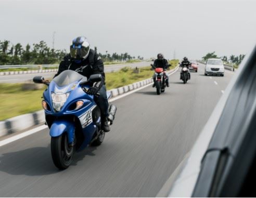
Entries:
{"label": "grassy green median strip behind the black-and-white kerb", "polygon": [[[170,69],[173,69],[177,62],[171,61],[172,67]],[[139,70],[140,72],[136,74],[133,73],[133,69],[125,67],[118,72],[106,73],[107,89],[129,85],[153,75],[150,67]],[[0,120],[41,110],[41,97],[44,89],[24,91],[22,84],[0,84]]]}

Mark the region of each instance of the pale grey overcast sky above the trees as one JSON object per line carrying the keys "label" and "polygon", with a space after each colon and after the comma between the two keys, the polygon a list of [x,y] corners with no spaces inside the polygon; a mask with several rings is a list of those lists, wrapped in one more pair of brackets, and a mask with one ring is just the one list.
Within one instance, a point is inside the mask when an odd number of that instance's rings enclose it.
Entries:
{"label": "pale grey overcast sky above the trees", "polygon": [[0,41],[69,49],[84,35],[110,54],[199,59],[247,54],[256,43],[256,1],[0,1]]}

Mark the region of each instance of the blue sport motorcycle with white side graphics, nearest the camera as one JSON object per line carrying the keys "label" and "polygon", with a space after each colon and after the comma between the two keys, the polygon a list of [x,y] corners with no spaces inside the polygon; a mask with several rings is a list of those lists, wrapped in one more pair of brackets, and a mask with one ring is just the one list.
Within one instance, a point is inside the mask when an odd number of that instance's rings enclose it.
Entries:
{"label": "blue sport motorcycle with white side graphics, nearest the camera", "polygon": [[[75,151],[89,146],[99,146],[105,132],[101,129],[101,113],[92,95],[88,95],[89,85],[101,81],[100,74],[87,79],[85,76],[66,70],[52,82],[42,76],[35,76],[34,83],[48,87],[43,93],[42,107],[45,110],[46,124],[50,129],[53,162],[59,169],[66,169],[72,162]],[[107,91],[108,99],[111,94]],[[111,125],[117,108],[109,105],[108,122]]]}

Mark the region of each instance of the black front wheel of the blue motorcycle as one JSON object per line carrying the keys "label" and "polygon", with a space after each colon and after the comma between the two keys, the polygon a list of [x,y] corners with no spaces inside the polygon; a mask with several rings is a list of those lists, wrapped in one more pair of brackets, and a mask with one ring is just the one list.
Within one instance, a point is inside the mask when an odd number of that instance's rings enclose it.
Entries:
{"label": "black front wheel of the blue motorcycle", "polygon": [[61,136],[52,137],[50,150],[54,165],[63,170],[70,166],[74,154],[74,147],[69,146],[67,133]]}

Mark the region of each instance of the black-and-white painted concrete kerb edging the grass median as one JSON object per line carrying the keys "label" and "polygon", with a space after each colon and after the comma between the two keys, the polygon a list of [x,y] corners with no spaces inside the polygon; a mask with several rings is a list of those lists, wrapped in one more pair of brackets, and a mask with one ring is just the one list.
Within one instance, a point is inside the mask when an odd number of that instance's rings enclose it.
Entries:
{"label": "black-and-white painted concrete kerb edging the grass median", "polygon": [[[170,75],[170,73],[175,72],[177,69],[178,69],[178,65],[174,69],[168,71],[167,73]],[[139,81],[130,85],[125,85],[123,87],[114,88],[109,91],[111,92],[112,97],[114,98],[117,96],[122,96],[124,94],[127,94],[130,91],[132,92],[132,91],[136,91],[137,89],[142,89],[152,83],[153,83],[153,79],[148,78],[146,80]],[[0,137],[19,133],[30,127],[43,124],[43,123],[45,123],[44,110],[11,117],[11,118],[8,118],[7,120],[0,121]]]}

